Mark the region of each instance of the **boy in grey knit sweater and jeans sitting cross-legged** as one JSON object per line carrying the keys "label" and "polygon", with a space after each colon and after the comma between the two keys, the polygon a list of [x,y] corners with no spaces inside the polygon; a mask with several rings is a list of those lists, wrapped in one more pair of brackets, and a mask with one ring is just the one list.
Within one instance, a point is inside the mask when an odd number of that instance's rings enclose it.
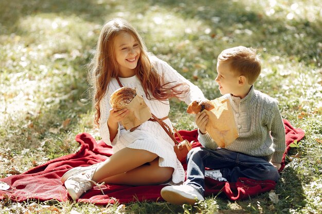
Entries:
{"label": "boy in grey knit sweater and jeans sitting cross-legged", "polygon": [[239,177],[278,180],[285,130],[278,102],[254,89],[260,71],[259,57],[252,48],[239,46],[220,53],[216,82],[220,93],[230,101],[239,137],[229,146],[219,148],[206,131],[207,114],[196,114],[198,140],[204,147],[188,153],[184,185],[161,190],[167,202],[181,205],[204,200],[205,167],[214,169],[206,176],[220,181],[236,182]]}

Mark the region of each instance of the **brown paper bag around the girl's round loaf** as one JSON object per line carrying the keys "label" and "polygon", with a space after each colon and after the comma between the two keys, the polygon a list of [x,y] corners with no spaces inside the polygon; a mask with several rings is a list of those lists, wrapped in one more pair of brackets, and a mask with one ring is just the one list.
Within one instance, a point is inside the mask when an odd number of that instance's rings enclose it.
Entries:
{"label": "brown paper bag around the girl's round loaf", "polygon": [[129,130],[149,120],[152,116],[150,108],[143,100],[141,94],[135,88],[136,95],[133,100],[126,106],[130,113],[121,121],[122,126]]}

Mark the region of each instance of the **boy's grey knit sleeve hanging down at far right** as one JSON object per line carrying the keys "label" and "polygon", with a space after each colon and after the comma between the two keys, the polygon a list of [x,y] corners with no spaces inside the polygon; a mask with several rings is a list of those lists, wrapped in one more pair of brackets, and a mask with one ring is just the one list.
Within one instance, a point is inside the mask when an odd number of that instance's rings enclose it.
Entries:
{"label": "boy's grey knit sleeve hanging down at far right", "polygon": [[278,106],[275,105],[271,113],[272,123],[271,126],[271,136],[273,139],[273,148],[275,152],[273,153],[272,162],[281,163],[283,158],[283,153],[285,151],[285,128],[282,120],[282,116],[278,109]]}

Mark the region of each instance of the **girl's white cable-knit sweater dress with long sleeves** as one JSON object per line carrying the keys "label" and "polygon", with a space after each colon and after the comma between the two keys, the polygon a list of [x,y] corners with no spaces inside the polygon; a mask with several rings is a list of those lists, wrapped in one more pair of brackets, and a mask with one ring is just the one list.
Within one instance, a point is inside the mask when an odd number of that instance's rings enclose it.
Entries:
{"label": "girl's white cable-knit sweater dress with long sleeves", "polygon": [[[197,86],[186,80],[166,62],[159,60],[155,56],[150,56],[150,61],[157,73],[159,73],[160,76],[164,76],[165,83],[177,81],[185,82],[189,85],[190,91],[181,95],[182,97],[184,96],[184,98],[180,98],[181,101],[189,104],[191,101],[204,99],[202,91]],[[148,100],[136,75],[127,78],[119,77],[119,80],[123,86],[137,88],[151,112],[157,116],[157,118],[164,118],[169,114],[169,101]],[[106,90],[106,94],[100,102],[101,117],[99,122],[99,132],[102,140],[106,144],[113,146],[114,153],[124,147],[128,147],[134,149],[145,149],[157,154],[159,157],[160,167],[172,167],[174,169],[172,182],[170,183],[178,184],[183,182],[185,179],[185,171],[180,161],[176,159],[176,155],[173,151],[174,143],[157,122],[147,121],[132,132],[130,132],[130,130],[127,131],[121,124],[119,124],[116,137],[113,142],[110,141],[110,133],[107,124],[111,109],[110,98],[111,94],[119,88],[120,86],[117,80],[113,78],[109,84],[108,90]],[[164,122],[172,128],[169,119],[164,120]]]}

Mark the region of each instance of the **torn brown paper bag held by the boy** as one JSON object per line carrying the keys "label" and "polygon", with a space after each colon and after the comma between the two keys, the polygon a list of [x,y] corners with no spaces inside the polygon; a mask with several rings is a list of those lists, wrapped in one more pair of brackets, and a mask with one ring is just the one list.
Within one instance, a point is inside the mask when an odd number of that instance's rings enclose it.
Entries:
{"label": "torn brown paper bag held by the boy", "polygon": [[228,99],[221,97],[211,102],[214,109],[204,110],[209,116],[206,130],[219,147],[225,148],[238,138],[234,113]]}

